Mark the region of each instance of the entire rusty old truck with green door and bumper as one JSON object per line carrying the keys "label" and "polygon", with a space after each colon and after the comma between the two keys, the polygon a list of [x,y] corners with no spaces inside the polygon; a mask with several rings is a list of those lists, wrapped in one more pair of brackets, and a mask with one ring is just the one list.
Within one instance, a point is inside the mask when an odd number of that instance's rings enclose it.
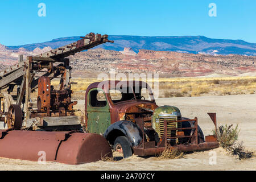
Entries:
{"label": "entire rusty old truck with green door and bumper", "polygon": [[[216,126],[216,113],[208,113]],[[219,146],[213,135],[204,137],[197,118],[181,117],[175,106],[156,105],[143,81],[103,81],[89,85],[85,95],[85,128],[103,135],[124,158],[157,155],[166,147],[180,151]]]}

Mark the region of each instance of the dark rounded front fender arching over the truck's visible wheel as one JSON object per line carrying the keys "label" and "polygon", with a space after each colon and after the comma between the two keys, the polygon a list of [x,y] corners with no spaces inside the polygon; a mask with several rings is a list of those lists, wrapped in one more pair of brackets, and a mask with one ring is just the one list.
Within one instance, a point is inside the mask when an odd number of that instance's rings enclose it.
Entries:
{"label": "dark rounded front fender arching over the truck's visible wheel", "polygon": [[125,136],[131,147],[138,146],[142,141],[142,131],[138,125],[131,121],[118,121],[106,129],[103,135],[110,144],[114,144],[115,138]]}

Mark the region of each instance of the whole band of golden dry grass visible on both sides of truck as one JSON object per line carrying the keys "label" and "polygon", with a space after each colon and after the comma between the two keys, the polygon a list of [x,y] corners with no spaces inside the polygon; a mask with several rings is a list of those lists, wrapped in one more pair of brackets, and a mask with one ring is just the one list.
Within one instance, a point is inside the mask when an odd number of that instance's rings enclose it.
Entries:
{"label": "whole band of golden dry grass visible on both sides of truck", "polygon": [[[72,85],[73,98],[83,100],[88,86],[101,80],[97,80],[97,78],[72,78],[71,81],[77,82],[76,85]],[[154,79],[148,80],[149,84],[154,81]],[[52,80],[52,85],[57,89],[59,80]],[[256,77],[159,78],[158,85],[159,97],[225,96],[256,93]],[[152,88],[154,89],[154,86]]]}

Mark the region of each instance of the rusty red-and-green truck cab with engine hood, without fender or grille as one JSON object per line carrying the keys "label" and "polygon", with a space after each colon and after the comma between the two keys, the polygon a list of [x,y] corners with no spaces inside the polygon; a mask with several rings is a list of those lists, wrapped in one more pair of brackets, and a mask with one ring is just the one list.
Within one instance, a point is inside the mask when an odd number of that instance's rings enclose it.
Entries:
{"label": "rusty red-and-green truck cab with engine hood, without fender or grille", "polygon": [[94,82],[86,90],[86,127],[90,133],[104,134],[113,123],[135,122],[135,118],[144,118],[151,126],[152,111],[157,107],[146,82]]}

